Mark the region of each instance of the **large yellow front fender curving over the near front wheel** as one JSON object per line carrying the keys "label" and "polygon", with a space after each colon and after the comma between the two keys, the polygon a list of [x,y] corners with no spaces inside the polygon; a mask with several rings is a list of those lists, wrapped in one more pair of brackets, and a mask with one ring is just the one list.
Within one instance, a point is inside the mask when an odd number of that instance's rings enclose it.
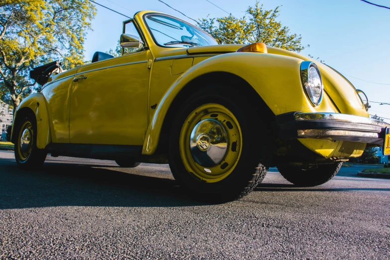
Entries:
{"label": "large yellow front fender curving over the near front wheel", "polygon": [[[251,85],[275,115],[291,111],[338,112],[326,92],[321,104],[313,107],[304,93],[300,79],[303,60],[269,53],[229,53],[215,56],[191,67],[163,95],[146,132],[142,154],[153,154],[163,120],[178,93],[199,76],[226,72],[241,77]],[[196,91],[196,89],[194,89]]]}

